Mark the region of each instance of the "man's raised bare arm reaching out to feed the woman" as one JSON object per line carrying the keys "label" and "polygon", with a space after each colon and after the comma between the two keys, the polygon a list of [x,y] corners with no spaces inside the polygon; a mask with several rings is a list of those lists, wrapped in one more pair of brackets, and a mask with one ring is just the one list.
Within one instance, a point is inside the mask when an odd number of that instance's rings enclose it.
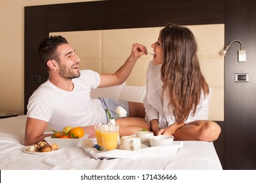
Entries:
{"label": "man's raised bare arm reaching out to feed the woman", "polygon": [[103,74],[100,75],[100,85],[99,88],[105,88],[109,86],[116,86],[122,84],[132,72],[134,65],[136,64],[137,59],[143,55],[147,55],[147,48],[141,44],[133,44],[132,52],[124,65],[122,65],[115,73],[113,74]]}

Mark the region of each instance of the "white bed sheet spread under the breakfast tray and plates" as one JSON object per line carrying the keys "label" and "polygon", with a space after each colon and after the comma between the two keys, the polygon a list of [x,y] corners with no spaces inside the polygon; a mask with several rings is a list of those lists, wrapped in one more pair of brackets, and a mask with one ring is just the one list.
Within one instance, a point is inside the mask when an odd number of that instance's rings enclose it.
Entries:
{"label": "white bed sheet spread under the breakfast tray and plates", "polygon": [[[23,152],[26,115],[0,120],[0,169],[99,169],[99,170],[220,170],[221,163],[213,142],[183,141],[183,148],[172,156],[137,159],[94,159],[82,147],[64,147],[54,154],[27,154]],[[52,128],[47,127],[47,132]]]}

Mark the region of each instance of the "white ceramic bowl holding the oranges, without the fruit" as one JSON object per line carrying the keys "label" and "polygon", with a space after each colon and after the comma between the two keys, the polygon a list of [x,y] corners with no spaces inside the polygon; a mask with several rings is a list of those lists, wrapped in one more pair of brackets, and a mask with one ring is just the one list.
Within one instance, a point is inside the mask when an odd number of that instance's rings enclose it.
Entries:
{"label": "white ceramic bowl holding the oranges, without the fruit", "polygon": [[81,137],[79,139],[60,139],[60,138],[52,138],[52,137],[45,137],[45,141],[48,144],[56,143],[60,146],[66,146],[66,147],[81,147],[82,139],[88,138],[89,134],[85,134],[84,137]]}

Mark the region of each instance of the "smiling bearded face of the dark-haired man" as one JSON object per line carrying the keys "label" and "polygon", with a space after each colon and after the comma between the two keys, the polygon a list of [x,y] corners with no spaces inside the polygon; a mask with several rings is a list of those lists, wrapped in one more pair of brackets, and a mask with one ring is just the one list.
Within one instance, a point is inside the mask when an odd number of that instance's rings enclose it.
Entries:
{"label": "smiling bearded face of the dark-haired man", "polygon": [[57,48],[59,56],[59,69],[62,78],[78,78],[80,58],[75,54],[75,50],[69,44],[62,44]]}

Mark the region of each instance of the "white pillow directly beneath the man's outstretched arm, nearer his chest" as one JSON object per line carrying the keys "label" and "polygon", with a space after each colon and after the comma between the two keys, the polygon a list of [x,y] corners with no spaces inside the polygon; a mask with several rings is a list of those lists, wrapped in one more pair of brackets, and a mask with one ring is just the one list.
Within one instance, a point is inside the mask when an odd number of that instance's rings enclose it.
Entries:
{"label": "white pillow directly beneath the man's outstretched arm, nearer his chest", "polygon": [[122,88],[125,86],[125,84],[126,82],[108,88],[96,88],[90,92],[90,96],[92,97],[92,99],[96,99],[98,97],[105,97],[109,99],[120,100]]}

